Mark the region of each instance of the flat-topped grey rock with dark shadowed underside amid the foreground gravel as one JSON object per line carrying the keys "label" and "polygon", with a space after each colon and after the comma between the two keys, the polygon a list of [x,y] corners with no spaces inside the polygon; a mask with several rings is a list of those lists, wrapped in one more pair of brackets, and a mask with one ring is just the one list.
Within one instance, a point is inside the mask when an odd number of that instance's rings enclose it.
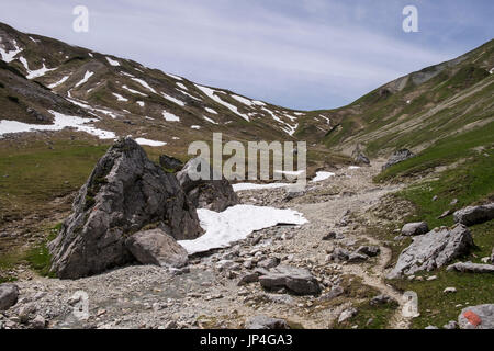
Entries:
{"label": "flat-topped grey rock with dark shadowed underside amid the foreground gravel", "polygon": [[321,292],[317,280],[308,270],[285,264],[280,264],[260,275],[259,283],[268,290],[285,287],[297,295],[314,295]]}

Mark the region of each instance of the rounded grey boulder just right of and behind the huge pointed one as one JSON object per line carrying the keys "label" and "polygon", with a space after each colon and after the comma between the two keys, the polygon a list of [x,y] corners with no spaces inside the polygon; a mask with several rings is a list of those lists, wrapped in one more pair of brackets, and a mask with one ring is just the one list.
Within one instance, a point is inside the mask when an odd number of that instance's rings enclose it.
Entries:
{"label": "rounded grey boulder just right of and behind the huge pointed one", "polygon": [[[202,168],[205,167],[206,170]],[[191,174],[203,174],[200,179],[194,179]],[[198,208],[207,208],[222,212],[226,207],[237,205],[238,196],[232,184],[217,174],[207,160],[201,157],[189,160],[182,170],[177,173],[177,179],[187,193],[191,202]]]}

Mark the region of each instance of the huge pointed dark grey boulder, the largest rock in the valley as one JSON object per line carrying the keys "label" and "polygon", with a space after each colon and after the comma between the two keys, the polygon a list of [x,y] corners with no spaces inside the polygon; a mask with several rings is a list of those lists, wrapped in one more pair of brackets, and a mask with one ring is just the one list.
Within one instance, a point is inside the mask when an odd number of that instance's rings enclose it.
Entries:
{"label": "huge pointed dark grey boulder, the largest rock in the valley", "polygon": [[98,161],[72,208],[49,244],[52,271],[61,279],[92,275],[133,261],[125,240],[149,224],[175,239],[202,234],[195,207],[175,176],[149,161],[132,138],[116,141]]}

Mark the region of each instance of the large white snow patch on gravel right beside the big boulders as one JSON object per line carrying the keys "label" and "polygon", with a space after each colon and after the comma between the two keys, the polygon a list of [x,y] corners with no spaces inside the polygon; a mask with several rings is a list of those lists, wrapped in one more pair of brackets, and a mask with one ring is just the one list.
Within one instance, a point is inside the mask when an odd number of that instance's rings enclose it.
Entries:
{"label": "large white snow patch on gravel right beside the big boulders", "polygon": [[293,210],[274,207],[235,205],[218,213],[205,208],[198,210],[204,235],[194,240],[178,241],[189,254],[211,249],[228,247],[235,241],[263,228],[278,224],[303,225],[307,219]]}

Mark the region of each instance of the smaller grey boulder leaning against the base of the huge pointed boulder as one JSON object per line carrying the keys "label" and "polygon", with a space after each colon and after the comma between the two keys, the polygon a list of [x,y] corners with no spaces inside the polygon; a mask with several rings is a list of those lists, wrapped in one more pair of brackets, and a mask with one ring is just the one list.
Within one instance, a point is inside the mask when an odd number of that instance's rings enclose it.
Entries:
{"label": "smaller grey boulder leaning against the base of the huge pointed boulder", "polygon": [[188,262],[187,250],[160,228],[133,234],[125,245],[143,264],[180,268]]}

